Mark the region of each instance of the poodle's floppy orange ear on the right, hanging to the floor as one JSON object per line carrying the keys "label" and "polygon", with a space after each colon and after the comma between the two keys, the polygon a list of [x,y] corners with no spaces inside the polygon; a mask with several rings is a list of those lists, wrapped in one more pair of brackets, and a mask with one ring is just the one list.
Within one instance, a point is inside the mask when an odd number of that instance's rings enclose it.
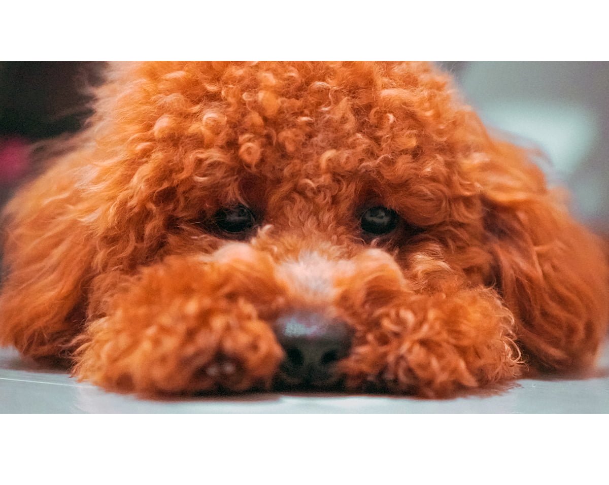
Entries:
{"label": "poodle's floppy orange ear on the right, hanging to the floor", "polygon": [[474,162],[498,290],[530,363],[580,370],[607,331],[609,276],[600,241],[576,223],[525,150],[488,139]]}

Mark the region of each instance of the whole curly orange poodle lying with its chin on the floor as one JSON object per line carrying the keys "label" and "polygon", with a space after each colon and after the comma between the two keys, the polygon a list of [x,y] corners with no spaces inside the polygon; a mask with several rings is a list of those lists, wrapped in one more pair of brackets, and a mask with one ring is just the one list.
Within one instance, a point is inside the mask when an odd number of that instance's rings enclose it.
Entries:
{"label": "whole curly orange poodle lying with its chin on the floor", "polygon": [[593,367],[600,240],[426,63],[116,63],[4,212],[0,343],[143,396]]}

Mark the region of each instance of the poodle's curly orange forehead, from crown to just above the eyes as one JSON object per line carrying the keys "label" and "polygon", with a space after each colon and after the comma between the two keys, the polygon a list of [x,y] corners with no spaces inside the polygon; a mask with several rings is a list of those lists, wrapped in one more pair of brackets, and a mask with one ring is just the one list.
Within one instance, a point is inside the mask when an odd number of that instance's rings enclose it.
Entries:
{"label": "poodle's curly orange forehead, from crown to just above the eyes", "polygon": [[325,198],[374,184],[403,197],[415,181],[414,197],[430,200],[471,145],[449,79],[426,63],[143,63],[99,94],[98,145],[108,136],[122,150],[111,159],[131,160],[100,172],[102,184],[194,181],[235,200],[252,181]]}

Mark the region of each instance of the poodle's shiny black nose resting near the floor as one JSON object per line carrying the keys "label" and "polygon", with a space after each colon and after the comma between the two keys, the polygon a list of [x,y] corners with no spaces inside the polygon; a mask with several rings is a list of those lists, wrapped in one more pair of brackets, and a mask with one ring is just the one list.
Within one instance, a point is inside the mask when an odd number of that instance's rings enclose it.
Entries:
{"label": "poodle's shiny black nose resting near the floor", "polygon": [[296,312],[275,323],[286,357],[280,379],[288,385],[329,386],[340,374],[336,363],[347,357],[351,332],[347,324],[319,313]]}

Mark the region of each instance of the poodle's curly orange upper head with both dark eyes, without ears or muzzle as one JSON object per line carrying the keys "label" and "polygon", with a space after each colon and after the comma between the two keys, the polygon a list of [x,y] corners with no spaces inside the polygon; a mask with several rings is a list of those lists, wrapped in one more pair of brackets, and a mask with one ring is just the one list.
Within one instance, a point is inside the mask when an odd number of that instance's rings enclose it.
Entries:
{"label": "poodle's curly orange upper head with both dark eyes, without ears or muzzle", "polygon": [[119,156],[133,162],[93,181],[111,197],[105,223],[138,231],[136,259],[231,241],[290,258],[376,247],[403,268],[424,253],[490,277],[476,180],[487,155],[468,134],[474,115],[428,65],[161,64],[138,75],[108,107],[112,143],[120,133]]}

